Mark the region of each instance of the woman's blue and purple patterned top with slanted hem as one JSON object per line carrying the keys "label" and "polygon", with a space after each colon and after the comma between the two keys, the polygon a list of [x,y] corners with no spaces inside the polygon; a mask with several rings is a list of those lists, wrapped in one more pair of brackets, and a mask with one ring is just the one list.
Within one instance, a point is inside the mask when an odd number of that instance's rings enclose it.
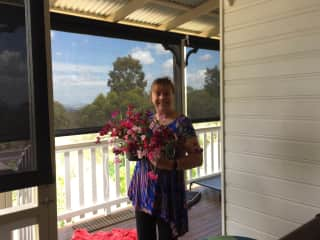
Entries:
{"label": "woman's blue and purple patterned top with slanted hem", "polygon": [[[178,138],[194,137],[191,120],[180,115],[168,125]],[[188,231],[188,212],[183,170],[157,169],[158,179],[148,178],[148,160],[137,161],[128,189],[129,199],[136,210],[161,217],[170,224],[173,237]]]}

